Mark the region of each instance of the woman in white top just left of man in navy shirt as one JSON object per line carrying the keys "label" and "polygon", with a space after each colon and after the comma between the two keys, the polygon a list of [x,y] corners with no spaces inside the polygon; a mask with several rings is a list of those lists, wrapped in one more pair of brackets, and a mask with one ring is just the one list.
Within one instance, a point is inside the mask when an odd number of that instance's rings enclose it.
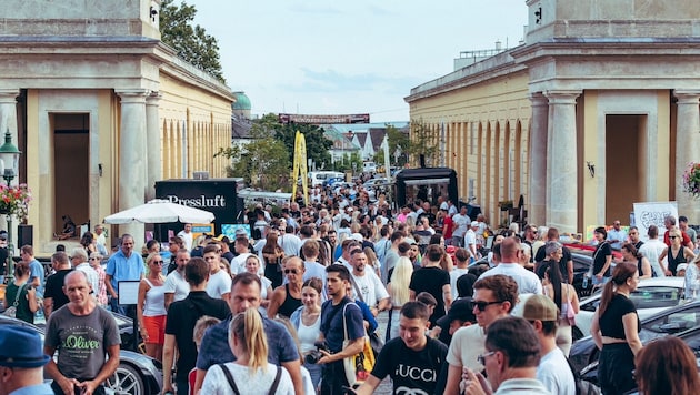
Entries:
{"label": "woman in white top just left of man in navy shirt", "polygon": [[316,341],[321,333],[322,290],[323,282],[320,278],[311,277],[304,281],[301,286],[302,305],[290,317],[291,324],[299,336],[299,348],[304,358],[303,366],[309,371],[314,388],[319,386],[321,381],[321,365],[308,363],[306,359],[310,353],[317,350]]}

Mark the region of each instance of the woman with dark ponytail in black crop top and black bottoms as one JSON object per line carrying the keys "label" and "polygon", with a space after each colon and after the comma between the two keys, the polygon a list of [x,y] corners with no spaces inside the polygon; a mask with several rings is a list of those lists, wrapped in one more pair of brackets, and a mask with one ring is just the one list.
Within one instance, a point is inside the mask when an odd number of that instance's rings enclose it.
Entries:
{"label": "woman with dark ponytail in black crop top and black bottoms", "polygon": [[634,356],[642,347],[637,307],[630,293],[637,290],[639,271],[633,263],[618,263],[606,283],[591,323],[591,336],[600,352],[598,382],[603,394],[623,394],[636,387]]}

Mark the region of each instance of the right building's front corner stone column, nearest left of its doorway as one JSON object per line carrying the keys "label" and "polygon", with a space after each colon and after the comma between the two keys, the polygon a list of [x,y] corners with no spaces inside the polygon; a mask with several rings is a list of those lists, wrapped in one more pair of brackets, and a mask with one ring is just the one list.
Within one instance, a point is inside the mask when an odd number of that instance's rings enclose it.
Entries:
{"label": "right building's front corner stone column, nearest left of its doorway", "polygon": [[550,216],[547,222],[560,233],[578,231],[578,178],[576,99],[581,91],[553,90],[544,93],[550,108]]}

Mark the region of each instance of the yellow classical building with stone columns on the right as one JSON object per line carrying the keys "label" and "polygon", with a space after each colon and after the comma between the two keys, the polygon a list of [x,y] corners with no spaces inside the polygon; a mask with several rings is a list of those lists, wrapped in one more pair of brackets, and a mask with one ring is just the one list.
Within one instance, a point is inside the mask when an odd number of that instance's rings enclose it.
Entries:
{"label": "yellow classical building with stone columns on the right", "polygon": [[528,0],[524,43],[411,90],[411,120],[498,219],[582,232],[634,202],[700,203],[681,175],[700,161],[700,8],[694,1]]}

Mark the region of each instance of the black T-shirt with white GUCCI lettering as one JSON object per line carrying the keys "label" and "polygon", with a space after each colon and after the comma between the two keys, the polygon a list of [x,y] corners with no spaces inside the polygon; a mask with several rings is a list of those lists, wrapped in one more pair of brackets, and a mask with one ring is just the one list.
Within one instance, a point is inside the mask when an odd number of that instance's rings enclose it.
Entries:
{"label": "black T-shirt with white GUCCI lettering", "polygon": [[434,393],[448,347],[430,337],[427,340],[421,351],[407,347],[401,337],[390,340],[377,357],[372,376],[380,381],[391,376],[394,394]]}

